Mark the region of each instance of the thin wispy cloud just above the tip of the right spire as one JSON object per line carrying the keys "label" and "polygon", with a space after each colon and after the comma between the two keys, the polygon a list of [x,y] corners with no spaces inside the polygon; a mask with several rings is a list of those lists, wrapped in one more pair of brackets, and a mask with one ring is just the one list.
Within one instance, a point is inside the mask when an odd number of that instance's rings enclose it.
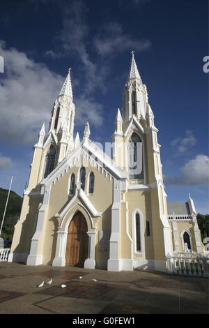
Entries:
{"label": "thin wispy cloud just above the tip of the right spire", "polygon": [[94,38],[94,45],[99,54],[107,56],[126,50],[144,51],[150,49],[150,40],[135,40],[123,33],[117,22],[111,22],[103,27]]}

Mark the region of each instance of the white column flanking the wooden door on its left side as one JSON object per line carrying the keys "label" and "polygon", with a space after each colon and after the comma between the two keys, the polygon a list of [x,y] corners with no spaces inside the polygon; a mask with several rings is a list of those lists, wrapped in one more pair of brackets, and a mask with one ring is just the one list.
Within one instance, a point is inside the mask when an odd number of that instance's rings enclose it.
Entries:
{"label": "white column flanking the wooden door on its left side", "polygon": [[56,241],[56,254],[52,262],[53,267],[65,267],[65,251],[68,232],[58,231]]}

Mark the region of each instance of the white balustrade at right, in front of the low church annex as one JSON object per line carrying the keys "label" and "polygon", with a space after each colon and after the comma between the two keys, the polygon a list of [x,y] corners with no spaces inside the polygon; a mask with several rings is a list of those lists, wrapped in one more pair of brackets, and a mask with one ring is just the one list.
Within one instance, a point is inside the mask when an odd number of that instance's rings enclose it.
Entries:
{"label": "white balustrade at right, in front of the low church annex", "polygon": [[209,277],[209,256],[198,253],[168,254],[167,273]]}

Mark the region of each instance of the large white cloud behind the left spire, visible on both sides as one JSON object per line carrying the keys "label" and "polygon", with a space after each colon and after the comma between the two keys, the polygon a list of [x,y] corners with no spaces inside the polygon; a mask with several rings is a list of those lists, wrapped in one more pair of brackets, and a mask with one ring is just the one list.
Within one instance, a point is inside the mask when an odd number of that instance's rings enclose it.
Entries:
{"label": "large white cloud behind the left spire, visible on both sides", "polygon": [[[6,48],[0,41],[0,53],[5,59],[5,74],[0,82],[0,139],[6,142],[35,143],[42,122],[48,123],[64,78],[42,63],[29,59],[24,52]],[[84,98],[78,99],[76,117],[84,113]],[[86,117],[99,126],[101,106],[86,100]],[[82,105],[81,105],[82,104]],[[82,124],[84,124],[82,122]]]}

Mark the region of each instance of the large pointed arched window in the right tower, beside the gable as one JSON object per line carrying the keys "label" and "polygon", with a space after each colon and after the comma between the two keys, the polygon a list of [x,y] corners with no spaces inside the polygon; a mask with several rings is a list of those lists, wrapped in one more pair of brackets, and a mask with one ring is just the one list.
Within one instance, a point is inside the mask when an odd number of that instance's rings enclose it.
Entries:
{"label": "large pointed arched window in the right tower, beside the gable", "polygon": [[137,133],[133,133],[128,142],[128,161],[130,179],[143,178],[142,142]]}

